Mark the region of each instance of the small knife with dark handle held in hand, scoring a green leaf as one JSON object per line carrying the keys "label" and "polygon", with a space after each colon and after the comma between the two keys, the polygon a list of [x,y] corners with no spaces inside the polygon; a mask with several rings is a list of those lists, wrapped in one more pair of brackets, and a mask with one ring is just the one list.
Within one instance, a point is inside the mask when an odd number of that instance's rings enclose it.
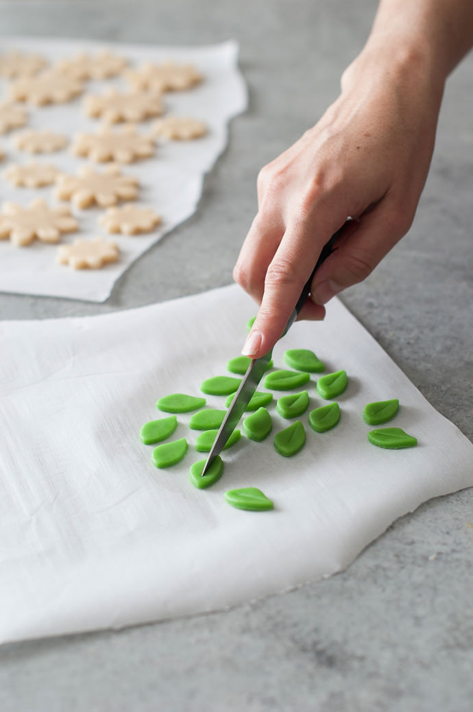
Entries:
{"label": "small knife with dark handle held in hand, scoring a green leaf", "polygon": [[[317,264],[312,270],[311,276],[304,285],[304,289],[301,292],[299,300],[297,300],[297,304],[294,307],[294,311],[289,317],[289,321],[287,322],[286,328],[282,333],[282,336],[287,333],[287,330],[296,320],[299,311],[302,309],[302,305],[304,304],[305,300],[309,295],[310,286],[312,283],[312,279],[314,278],[314,274],[321,266],[321,263],[324,262],[329,256],[329,254],[331,254],[331,252],[333,251],[334,242],[336,241],[339,234],[340,230],[337,230],[336,233],[331,236],[329,241],[322,248],[322,251],[319,255],[319,259],[317,260]],[[245,412],[245,409],[248,406],[248,403],[250,402],[253,393],[257,389],[258,383],[262,379],[262,376],[265,371],[267,371],[267,367],[270,364],[271,357],[272,349],[264,356],[261,356],[260,358],[254,358],[248,366],[248,369],[245,375],[243,376],[240,386],[238,387],[238,391],[235,393],[233,401],[231,402],[230,407],[228,408],[228,411],[226,412],[225,417],[222,421],[222,424],[220,425],[220,429],[217,433],[216,439],[213,441],[213,446],[208,454],[206,464],[203,467],[202,477],[206,474],[208,468],[211,466],[213,461],[215,461],[216,457],[220,455],[220,452],[223,450],[226,441],[235,430],[235,427],[238,425],[238,422],[240,421],[240,418]]]}

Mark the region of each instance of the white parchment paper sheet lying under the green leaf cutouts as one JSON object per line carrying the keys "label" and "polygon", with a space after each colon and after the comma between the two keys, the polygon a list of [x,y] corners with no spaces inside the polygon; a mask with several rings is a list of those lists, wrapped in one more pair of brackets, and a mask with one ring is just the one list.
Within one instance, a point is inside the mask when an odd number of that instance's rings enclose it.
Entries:
{"label": "white parchment paper sheet lying under the green leaf cutouts", "polygon": [[[240,353],[255,306],[237,286],[111,315],[0,323],[0,641],[196,614],[344,569],[423,501],[473,485],[473,445],[438,414],[339,300],[324,323],[296,323],[274,351],[312,348],[326,371],[346,369],[335,429],[307,431],[278,455],[287,425],[225,451],[213,487],[188,481],[197,431],[181,464],[158,470],[139,429],[171,392],[200,394]],[[216,335],[218,334],[218,337]],[[228,374],[227,374],[228,375]],[[310,409],[324,404],[309,384]],[[275,392],[275,395],[278,394]],[[390,424],[413,449],[378,449],[361,417],[398,397]],[[208,397],[208,406],[223,407]],[[165,414],[161,414],[164,416]],[[256,486],[263,513],[223,493]]]}

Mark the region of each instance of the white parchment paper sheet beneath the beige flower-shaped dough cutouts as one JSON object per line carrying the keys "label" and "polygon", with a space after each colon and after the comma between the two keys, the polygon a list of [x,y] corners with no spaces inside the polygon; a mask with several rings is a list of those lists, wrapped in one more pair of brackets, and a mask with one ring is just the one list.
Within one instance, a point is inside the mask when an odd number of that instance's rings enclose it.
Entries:
{"label": "white parchment paper sheet beneath the beige flower-shaped dough cutouts", "polygon": [[[0,43],[2,53],[10,50],[37,52],[51,63],[73,57],[80,52],[94,54],[102,49],[126,57],[132,67],[139,66],[143,61],[160,63],[167,59],[196,66],[205,78],[203,83],[188,91],[165,93],[165,115],[191,116],[203,120],[208,126],[208,134],[192,141],[156,140],[154,157],[127,164],[122,168],[125,174],[139,179],[139,197],[135,202],[152,206],[161,215],[162,223],[149,234],[110,235],[110,239],[119,245],[120,257],[117,263],[98,271],[74,271],[55,263],[55,245],[35,241],[30,246],[18,248],[9,240],[0,240],[2,292],[97,302],[107,299],[115,281],[129,265],[196,210],[201,197],[203,176],[211,169],[227,143],[228,122],[246,108],[245,82],[238,70],[238,45],[233,41],[193,48],[33,38],[2,38]],[[6,98],[7,85],[8,82],[0,78],[0,100]],[[18,129],[18,132],[33,128],[58,132],[70,138],[77,132],[96,132],[102,122],[85,115],[83,97],[87,93],[102,94],[106,88],[126,91],[129,90],[129,85],[123,78],[89,81],[85,83],[84,95],[70,103],[37,108],[26,105],[28,124]],[[140,122],[139,132],[147,134],[154,121],[155,119]],[[0,147],[5,154],[0,163],[0,175],[8,164],[26,164],[31,159],[52,163],[67,174],[76,174],[78,167],[83,164],[90,164],[98,171],[105,167],[105,164],[95,164],[73,156],[69,147],[55,153],[31,156],[18,151],[14,146],[12,139],[16,133],[17,131],[13,131],[0,136]],[[14,201],[26,206],[35,198],[43,198],[50,205],[63,204],[54,199],[53,192],[53,187],[27,189],[11,186],[6,179],[0,179],[2,202]],[[78,237],[107,236],[105,229],[97,222],[103,211],[100,207],[80,210],[72,206],[72,212],[79,221],[79,231],[64,235],[61,242],[72,242]]]}

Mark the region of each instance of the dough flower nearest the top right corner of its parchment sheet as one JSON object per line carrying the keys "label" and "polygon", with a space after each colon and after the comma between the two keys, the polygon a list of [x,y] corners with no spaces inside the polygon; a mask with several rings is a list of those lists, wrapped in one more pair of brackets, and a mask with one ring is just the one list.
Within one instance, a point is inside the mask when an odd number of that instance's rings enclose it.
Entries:
{"label": "dough flower nearest the top right corner of its parchment sheet", "polygon": [[203,77],[191,64],[144,62],[137,69],[130,69],[124,77],[135,89],[155,91],[182,91],[200,84]]}

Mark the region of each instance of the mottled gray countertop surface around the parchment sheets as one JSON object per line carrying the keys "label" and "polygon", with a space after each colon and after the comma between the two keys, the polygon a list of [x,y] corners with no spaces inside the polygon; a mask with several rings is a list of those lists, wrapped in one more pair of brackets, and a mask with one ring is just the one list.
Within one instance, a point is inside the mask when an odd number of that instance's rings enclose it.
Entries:
{"label": "mottled gray countertop surface around the parchment sheets", "polygon": [[[258,169],[317,121],[374,0],[14,0],[0,33],[156,44],[235,38],[250,107],[196,214],[104,304],[0,294],[3,319],[101,314],[231,281]],[[473,56],[449,80],[413,227],[344,303],[473,439]],[[208,255],[212,260],[208,260]],[[205,267],[211,265],[210,268]],[[473,467],[473,463],[472,463]],[[398,520],[349,570],[228,612],[0,648],[2,712],[470,712],[473,490]]]}

